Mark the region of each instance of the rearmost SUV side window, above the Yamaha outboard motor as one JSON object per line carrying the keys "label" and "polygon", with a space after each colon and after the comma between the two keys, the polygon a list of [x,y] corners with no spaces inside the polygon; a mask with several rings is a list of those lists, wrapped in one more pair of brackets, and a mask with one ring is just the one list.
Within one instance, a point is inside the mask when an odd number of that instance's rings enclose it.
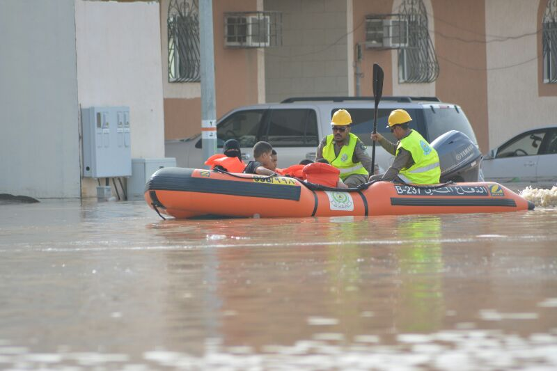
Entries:
{"label": "rearmost SUV side window, above the Yamaha outboard motor", "polygon": [[431,143],[438,136],[457,130],[469,137],[473,143],[478,143],[473,129],[462,112],[462,109],[455,109],[454,106],[446,106],[446,108],[424,107],[425,125],[427,126],[427,134]]}

